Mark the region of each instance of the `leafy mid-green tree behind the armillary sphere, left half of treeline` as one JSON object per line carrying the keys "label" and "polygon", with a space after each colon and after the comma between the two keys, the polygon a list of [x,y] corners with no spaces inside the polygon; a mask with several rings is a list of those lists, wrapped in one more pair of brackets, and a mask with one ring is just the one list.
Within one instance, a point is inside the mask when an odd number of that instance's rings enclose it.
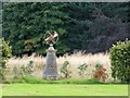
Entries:
{"label": "leafy mid-green tree behind the armillary sphere, left half of treeline", "polygon": [[[4,3],[3,36],[11,41],[13,54],[31,52],[44,54],[47,46],[43,35],[47,30],[56,30],[60,36],[66,34],[68,15],[63,13],[65,4]],[[64,39],[58,41],[57,48],[60,52],[67,50]]]}

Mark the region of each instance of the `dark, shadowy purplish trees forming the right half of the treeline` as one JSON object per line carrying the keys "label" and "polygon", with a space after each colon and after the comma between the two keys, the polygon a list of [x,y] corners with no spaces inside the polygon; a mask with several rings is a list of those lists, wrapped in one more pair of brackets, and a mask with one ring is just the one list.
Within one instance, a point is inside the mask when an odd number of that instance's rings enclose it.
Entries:
{"label": "dark, shadowy purplish trees forming the right half of the treeline", "polygon": [[113,42],[130,38],[128,3],[69,3],[68,11],[72,51],[105,52]]}

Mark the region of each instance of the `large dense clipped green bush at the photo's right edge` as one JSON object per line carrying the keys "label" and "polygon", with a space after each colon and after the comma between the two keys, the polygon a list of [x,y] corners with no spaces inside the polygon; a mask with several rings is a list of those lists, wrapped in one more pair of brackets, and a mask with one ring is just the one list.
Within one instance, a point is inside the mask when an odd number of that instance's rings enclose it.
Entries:
{"label": "large dense clipped green bush at the photo's right edge", "polygon": [[130,83],[130,40],[118,41],[110,48],[112,76]]}

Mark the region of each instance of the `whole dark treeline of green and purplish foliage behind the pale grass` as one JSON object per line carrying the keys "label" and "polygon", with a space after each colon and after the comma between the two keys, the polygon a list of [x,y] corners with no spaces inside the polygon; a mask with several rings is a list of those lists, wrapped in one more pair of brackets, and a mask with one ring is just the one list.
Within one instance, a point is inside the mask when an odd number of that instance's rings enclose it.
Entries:
{"label": "whole dark treeline of green and purplish foliage behind the pale grass", "polygon": [[57,54],[106,52],[118,40],[130,39],[129,3],[3,3],[3,37],[13,54],[46,54],[43,34],[56,30]]}

